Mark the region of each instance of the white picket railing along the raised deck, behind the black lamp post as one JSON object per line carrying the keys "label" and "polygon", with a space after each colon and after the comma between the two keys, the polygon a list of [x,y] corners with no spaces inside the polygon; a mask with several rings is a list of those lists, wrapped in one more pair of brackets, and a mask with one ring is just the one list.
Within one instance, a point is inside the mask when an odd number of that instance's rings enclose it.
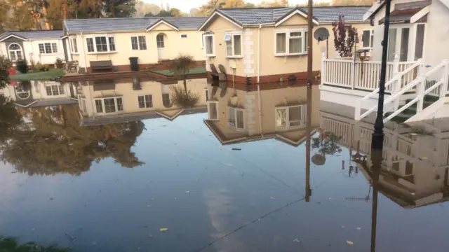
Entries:
{"label": "white picket railing along the raised deck, behind the black lamp post", "polygon": [[[395,57],[394,62],[387,62],[387,78],[391,80],[397,73],[403,72],[416,62],[399,62]],[[345,87],[356,90],[373,91],[379,87],[380,69],[382,62],[354,61],[350,59],[326,59],[323,54],[321,61],[321,84]],[[410,83],[417,76],[417,71],[403,74],[401,86]],[[391,92],[391,87],[387,88]]]}

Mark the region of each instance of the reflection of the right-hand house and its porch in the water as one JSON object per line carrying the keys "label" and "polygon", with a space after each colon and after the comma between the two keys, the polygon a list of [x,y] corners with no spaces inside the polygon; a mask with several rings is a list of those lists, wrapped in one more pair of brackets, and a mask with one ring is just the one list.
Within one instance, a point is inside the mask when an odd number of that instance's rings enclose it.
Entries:
{"label": "reflection of the right-hand house and its porch in the water", "polygon": [[[340,144],[349,148],[352,160],[372,181],[373,124],[339,116],[343,110],[338,105],[323,106],[323,102],[321,105],[321,129],[342,137]],[[384,128],[380,192],[405,208],[449,200],[449,127],[434,129],[433,135],[418,135],[402,125],[387,127]]]}

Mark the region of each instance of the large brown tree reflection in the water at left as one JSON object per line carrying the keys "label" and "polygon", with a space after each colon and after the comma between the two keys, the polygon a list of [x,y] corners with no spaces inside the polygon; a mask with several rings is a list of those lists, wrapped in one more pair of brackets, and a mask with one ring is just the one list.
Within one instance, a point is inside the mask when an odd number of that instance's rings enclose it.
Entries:
{"label": "large brown tree reflection in the water at left", "polygon": [[145,129],[141,121],[80,127],[76,105],[26,109],[22,116],[24,122],[0,147],[1,160],[19,172],[79,175],[109,157],[123,167],[143,164],[131,152]]}

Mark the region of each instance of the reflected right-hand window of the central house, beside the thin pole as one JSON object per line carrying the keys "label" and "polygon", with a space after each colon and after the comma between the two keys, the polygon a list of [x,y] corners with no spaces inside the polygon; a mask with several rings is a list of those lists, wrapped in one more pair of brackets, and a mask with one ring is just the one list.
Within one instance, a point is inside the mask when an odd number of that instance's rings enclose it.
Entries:
{"label": "reflected right-hand window of the central house, beside the thin pole", "polygon": [[276,128],[304,127],[306,124],[306,106],[278,107],[276,113]]}

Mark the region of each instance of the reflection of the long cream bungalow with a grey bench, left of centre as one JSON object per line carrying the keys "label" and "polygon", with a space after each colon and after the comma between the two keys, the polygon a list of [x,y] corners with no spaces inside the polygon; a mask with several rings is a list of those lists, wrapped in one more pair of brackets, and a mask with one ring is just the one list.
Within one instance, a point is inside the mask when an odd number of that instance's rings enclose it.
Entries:
{"label": "reflection of the long cream bungalow with a grey bench, left of centre", "polygon": [[187,80],[187,90],[199,97],[198,102],[189,109],[173,101],[175,87],[184,92],[182,81],[170,85],[138,78],[81,82],[81,125],[149,118],[173,120],[184,113],[206,113],[206,79]]}

